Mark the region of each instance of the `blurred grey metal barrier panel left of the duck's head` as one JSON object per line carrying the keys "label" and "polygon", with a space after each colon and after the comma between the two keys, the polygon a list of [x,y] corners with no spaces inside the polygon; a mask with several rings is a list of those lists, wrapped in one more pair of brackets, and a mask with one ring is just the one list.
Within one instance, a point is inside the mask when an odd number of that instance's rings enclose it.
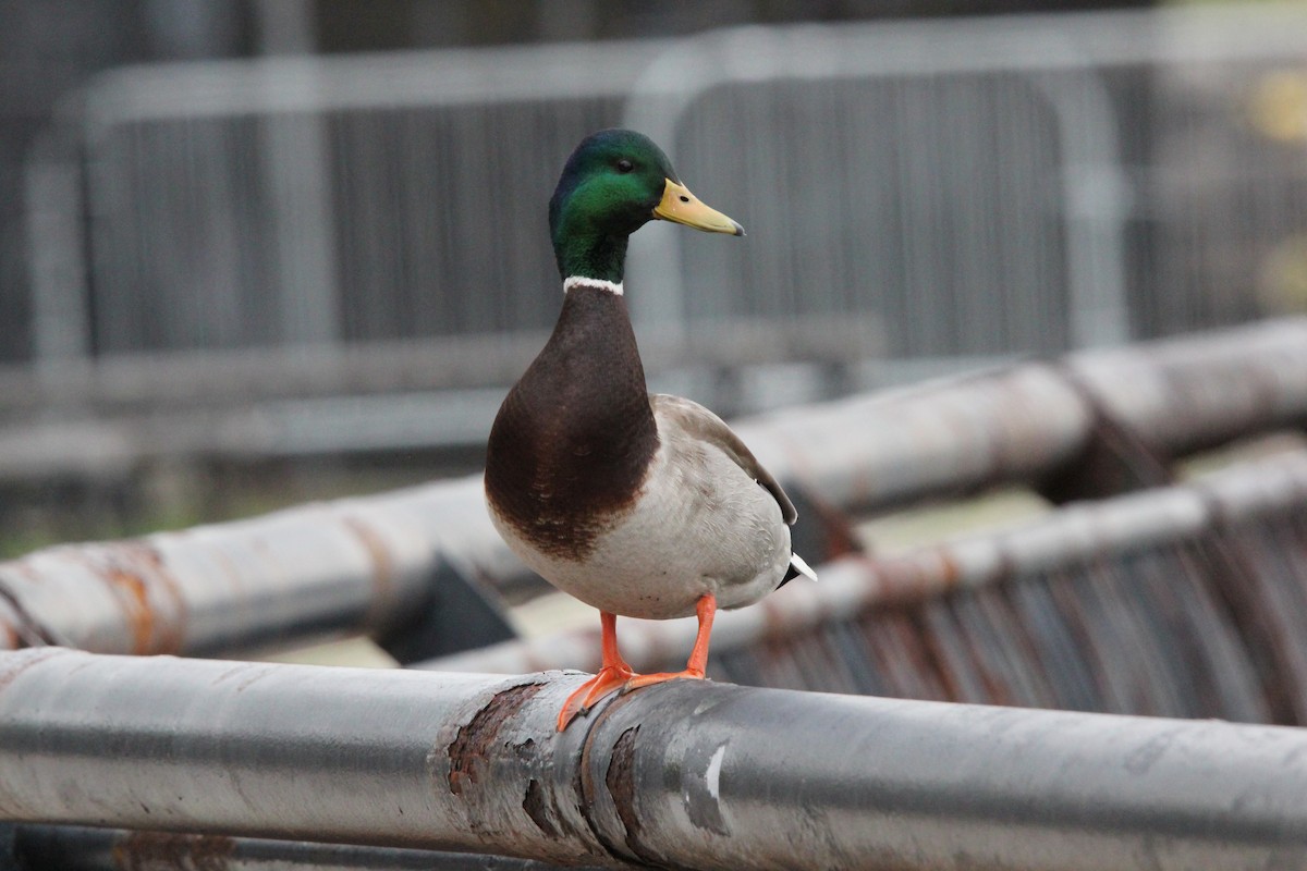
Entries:
{"label": "blurred grey metal barrier panel left of the duck's head", "polygon": [[[108,73],[37,184],[85,172],[38,262],[38,347],[99,354],[546,326],[544,204],[659,43]],[[44,182],[43,182],[44,179]],[[42,192],[37,192],[38,200]],[[65,195],[67,196],[67,195]],[[77,223],[86,215],[82,240]],[[59,231],[63,232],[59,232]],[[41,253],[55,248],[54,253]],[[60,300],[60,302],[54,302]],[[80,300],[80,302],[78,302]],[[89,304],[86,334],[61,312]]]}

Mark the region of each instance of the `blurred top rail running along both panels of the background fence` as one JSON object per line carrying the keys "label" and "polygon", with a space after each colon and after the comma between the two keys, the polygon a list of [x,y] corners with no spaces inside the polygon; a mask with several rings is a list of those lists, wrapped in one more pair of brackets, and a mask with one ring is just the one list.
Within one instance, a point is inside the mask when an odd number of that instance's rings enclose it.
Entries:
{"label": "blurred top rail running along both panels of the background fence", "polygon": [[[839,57],[859,72],[971,72],[1086,69],[1140,63],[1192,63],[1294,57],[1303,47],[1304,16],[1291,4],[1246,9],[1151,9],[1080,14],[1027,14],[962,21],[846,22],[825,29],[842,44]],[[716,31],[714,39],[748,37],[753,27]],[[826,34],[821,26],[774,27],[799,48]],[[1176,34],[1158,39],[1158,34]],[[701,38],[702,39],[702,38]],[[1067,51],[1072,42],[1074,51]],[[144,119],[307,112],[525,101],[557,94],[656,95],[684,80],[669,74],[680,43],[667,39],[558,43],[477,50],[405,51],[328,59],[277,57],[150,64],[105,73],[93,82],[88,111],[103,127]],[[699,43],[694,43],[698,48]],[[853,51],[850,51],[852,47]],[[826,55],[830,43],[817,46]],[[703,55],[686,52],[694,64]],[[771,57],[763,55],[757,65]],[[710,59],[711,60],[711,59]],[[732,60],[748,61],[738,56]],[[848,63],[848,61],[846,61]],[[647,67],[663,69],[644,74]],[[834,69],[831,69],[834,67]],[[521,71],[548,74],[524,76]],[[595,76],[600,69],[603,74]],[[312,78],[320,89],[268,91],[278,78]],[[673,71],[674,72],[674,71]],[[843,69],[833,60],[823,73]],[[697,71],[702,74],[702,71]],[[846,73],[847,74],[847,73]],[[689,77],[693,81],[693,76]],[[663,82],[663,87],[657,87]],[[94,127],[93,127],[94,129]]]}

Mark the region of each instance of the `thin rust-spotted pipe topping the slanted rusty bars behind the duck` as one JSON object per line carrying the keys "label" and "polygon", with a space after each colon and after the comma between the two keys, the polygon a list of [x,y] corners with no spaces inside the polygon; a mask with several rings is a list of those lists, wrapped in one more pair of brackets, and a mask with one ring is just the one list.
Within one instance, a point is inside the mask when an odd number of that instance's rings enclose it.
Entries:
{"label": "thin rust-spotted pipe topping the slanted rusty bars behind the duck", "polygon": [[[765,639],[795,636],[847,620],[876,605],[914,602],[959,588],[1074,567],[1163,542],[1212,534],[1264,515],[1307,512],[1307,451],[1214,473],[1208,479],[1097,503],[1077,504],[999,534],[946,541],[902,556],[846,556],[819,567],[817,585],[789,584],[758,605],[718,615],[716,653]],[[637,670],[661,669],[694,642],[687,620],[623,619],[622,652]],[[465,650],[417,667],[518,674],[588,669],[599,662],[595,631],[567,632]]]}

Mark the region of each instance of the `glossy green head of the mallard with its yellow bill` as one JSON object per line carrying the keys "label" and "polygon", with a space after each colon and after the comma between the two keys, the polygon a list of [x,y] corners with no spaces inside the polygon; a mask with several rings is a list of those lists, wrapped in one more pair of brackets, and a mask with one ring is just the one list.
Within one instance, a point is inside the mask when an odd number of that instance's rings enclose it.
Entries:
{"label": "glossy green head of the mallard with its yellow bill", "polygon": [[708,232],[744,227],[699,202],[654,140],[635,131],[600,131],[567,158],[549,200],[549,231],[563,278],[621,282],[626,239],[655,218]]}

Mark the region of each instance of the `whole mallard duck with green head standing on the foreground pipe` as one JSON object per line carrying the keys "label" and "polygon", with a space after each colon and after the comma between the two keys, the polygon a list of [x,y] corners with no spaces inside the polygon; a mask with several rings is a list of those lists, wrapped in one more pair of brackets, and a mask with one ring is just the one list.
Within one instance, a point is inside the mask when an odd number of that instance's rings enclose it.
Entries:
{"label": "whole mallard duck with green head standing on the foreground pipe", "polygon": [[[566,700],[559,731],[613,691],[703,678],[718,609],[816,580],[791,548],[793,503],[749,448],[702,405],[644,387],[622,278],[627,238],[652,219],[744,235],[647,136],[583,140],[549,201],[562,312],[486,451],[486,503],[508,547],[600,611],[603,667]],[[635,674],[617,616],[690,614],[699,631],[685,670]]]}

